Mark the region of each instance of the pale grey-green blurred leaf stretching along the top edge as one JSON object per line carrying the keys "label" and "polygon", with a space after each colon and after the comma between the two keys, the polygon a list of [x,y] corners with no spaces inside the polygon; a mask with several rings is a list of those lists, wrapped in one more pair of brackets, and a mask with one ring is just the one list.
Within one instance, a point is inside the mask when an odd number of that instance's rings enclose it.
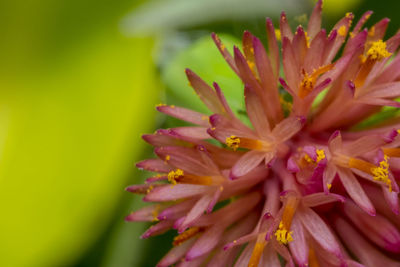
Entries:
{"label": "pale grey-green blurred leaf stretching along the top edge", "polygon": [[130,34],[163,33],[214,21],[277,16],[282,10],[298,14],[307,8],[305,0],[153,0],[130,14],[122,27]]}

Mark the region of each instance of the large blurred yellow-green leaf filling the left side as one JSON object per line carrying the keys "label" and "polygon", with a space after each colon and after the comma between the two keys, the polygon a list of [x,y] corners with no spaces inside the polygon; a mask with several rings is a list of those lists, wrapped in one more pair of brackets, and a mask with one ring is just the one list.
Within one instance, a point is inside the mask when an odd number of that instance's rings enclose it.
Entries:
{"label": "large blurred yellow-green leaf filling the left side", "polygon": [[[67,266],[110,223],[160,88],[132,3],[0,8],[0,266]],[[136,227],[132,225],[132,227]]]}

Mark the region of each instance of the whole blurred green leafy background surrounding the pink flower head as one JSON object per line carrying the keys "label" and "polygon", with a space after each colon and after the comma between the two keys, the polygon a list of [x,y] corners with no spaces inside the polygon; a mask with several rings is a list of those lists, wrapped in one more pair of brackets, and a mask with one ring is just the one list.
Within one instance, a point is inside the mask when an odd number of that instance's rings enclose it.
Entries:
{"label": "whole blurred green leafy background surrounding the pink flower head", "polygon": [[[170,102],[204,111],[183,69],[218,81],[240,111],[240,81],[214,48],[264,17],[304,23],[310,0],[0,1],[0,266],[154,266],[173,233],[139,240],[148,225],[123,218],[142,204],[124,191],[152,157],[140,135],[176,123]],[[345,12],[371,21],[398,1],[327,0],[326,27]],[[165,245],[163,245],[165,244]]]}

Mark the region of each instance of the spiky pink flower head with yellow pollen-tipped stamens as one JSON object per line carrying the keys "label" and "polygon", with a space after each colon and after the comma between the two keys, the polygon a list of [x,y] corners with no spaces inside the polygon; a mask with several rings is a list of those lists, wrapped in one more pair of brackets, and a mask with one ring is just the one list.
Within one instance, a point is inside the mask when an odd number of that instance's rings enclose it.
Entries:
{"label": "spiky pink flower head with yellow pollen-tipped stamens", "polygon": [[158,158],[137,166],[158,174],[127,188],[155,203],[126,218],[155,222],[143,238],[177,230],[158,266],[400,266],[399,118],[354,129],[400,106],[400,33],[383,40],[388,19],[362,30],[366,12],[327,34],[321,12],[294,33],[284,13],[279,29],[267,19],[268,52],[246,31],[232,56],[212,34],[251,126],[188,69],[211,114],[157,107],[193,125],[144,135]]}

